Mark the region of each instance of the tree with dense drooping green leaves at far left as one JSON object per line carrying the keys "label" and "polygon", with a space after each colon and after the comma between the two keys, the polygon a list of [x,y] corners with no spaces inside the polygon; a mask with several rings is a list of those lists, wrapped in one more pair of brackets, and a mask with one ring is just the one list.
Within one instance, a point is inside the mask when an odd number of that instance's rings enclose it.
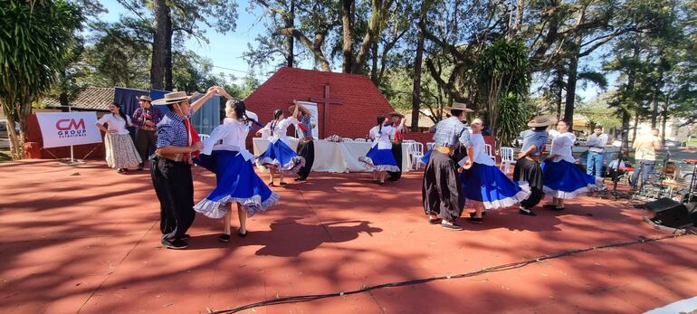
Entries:
{"label": "tree with dense drooping green leaves at far left", "polygon": [[[32,101],[51,88],[56,72],[66,64],[74,47],[72,33],[81,20],[80,9],[64,0],[33,5],[5,0],[0,5],[0,106],[11,127],[19,121],[25,128]],[[13,157],[21,158],[19,139],[11,139],[11,144]]]}

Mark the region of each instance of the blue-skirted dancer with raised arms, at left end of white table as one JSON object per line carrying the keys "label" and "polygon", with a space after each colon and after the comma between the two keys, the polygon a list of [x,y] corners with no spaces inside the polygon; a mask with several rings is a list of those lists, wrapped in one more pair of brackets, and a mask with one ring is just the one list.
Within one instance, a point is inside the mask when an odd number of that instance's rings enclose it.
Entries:
{"label": "blue-skirted dancer with raised arms, at left end of white table", "polygon": [[[297,111],[297,109],[296,109]],[[294,114],[297,114],[295,112]],[[259,163],[269,169],[271,180],[269,186],[273,186],[273,176],[278,173],[281,176],[279,185],[285,186],[283,181],[285,175],[295,175],[305,166],[305,158],[298,156],[290,147],[286,132],[292,124],[298,124],[298,120],[291,116],[283,119],[283,110],[276,109],[273,111],[273,120],[269,122],[263,129],[271,130],[272,136],[269,138],[269,146],[266,151],[259,156]],[[259,130],[257,133],[263,131]]]}

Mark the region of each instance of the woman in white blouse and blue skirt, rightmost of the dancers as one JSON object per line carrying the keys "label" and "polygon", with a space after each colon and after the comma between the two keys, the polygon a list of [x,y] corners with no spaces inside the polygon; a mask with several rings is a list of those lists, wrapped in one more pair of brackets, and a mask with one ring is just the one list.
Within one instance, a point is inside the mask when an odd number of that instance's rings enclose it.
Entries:
{"label": "woman in white blouse and blue skirt, rightmost of the dancers", "polygon": [[549,157],[542,163],[542,191],[552,196],[552,202],[545,207],[563,211],[565,199],[574,199],[580,193],[600,188],[603,178],[587,175],[576,166],[576,158],[571,154],[576,136],[568,132],[568,123],[560,120],[557,130],[559,135],[552,139]]}

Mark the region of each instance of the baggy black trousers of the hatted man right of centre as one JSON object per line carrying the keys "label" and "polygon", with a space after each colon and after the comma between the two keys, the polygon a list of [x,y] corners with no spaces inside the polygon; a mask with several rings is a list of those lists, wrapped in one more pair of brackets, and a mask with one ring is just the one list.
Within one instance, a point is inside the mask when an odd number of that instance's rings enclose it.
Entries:
{"label": "baggy black trousers of the hatted man right of centre", "polygon": [[425,214],[441,214],[449,222],[463,214],[464,195],[453,157],[434,150],[424,171],[421,189]]}

